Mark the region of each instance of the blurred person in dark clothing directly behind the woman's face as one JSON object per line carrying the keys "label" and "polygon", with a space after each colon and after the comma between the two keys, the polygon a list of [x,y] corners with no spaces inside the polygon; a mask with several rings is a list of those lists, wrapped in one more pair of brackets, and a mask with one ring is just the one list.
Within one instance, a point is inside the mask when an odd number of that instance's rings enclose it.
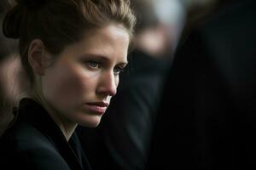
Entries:
{"label": "blurred person in dark clothing directly behind the woman's face", "polygon": [[166,32],[154,13],[153,3],[132,0],[131,7],[137,25],[129,65],[120,75],[118,94],[97,129],[79,131],[94,169],[145,169],[162,83],[171,65],[164,56]]}

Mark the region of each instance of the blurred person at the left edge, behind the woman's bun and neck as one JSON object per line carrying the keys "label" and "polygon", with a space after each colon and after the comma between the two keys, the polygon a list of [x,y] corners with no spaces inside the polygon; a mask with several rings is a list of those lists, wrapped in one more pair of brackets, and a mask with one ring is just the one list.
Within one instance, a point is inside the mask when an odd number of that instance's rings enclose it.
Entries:
{"label": "blurred person at the left edge, behind the woman's bun and neck", "polygon": [[[0,3],[0,23],[9,8],[7,1]],[[0,31],[0,136],[13,121],[12,110],[18,106],[19,99],[26,94],[26,75],[18,57],[17,42],[9,40]]]}

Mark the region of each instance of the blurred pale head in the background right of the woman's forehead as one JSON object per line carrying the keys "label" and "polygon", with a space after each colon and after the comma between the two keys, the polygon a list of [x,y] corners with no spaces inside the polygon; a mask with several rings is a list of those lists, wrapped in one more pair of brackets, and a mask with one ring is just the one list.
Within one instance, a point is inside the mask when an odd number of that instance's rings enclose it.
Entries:
{"label": "blurred pale head in the background right of the woman's forehead", "polygon": [[[153,0],[131,0],[131,7],[137,17],[135,26],[135,48],[151,56],[160,57],[166,54],[169,46],[169,32],[160,22]],[[168,48],[168,49],[167,49]]]}

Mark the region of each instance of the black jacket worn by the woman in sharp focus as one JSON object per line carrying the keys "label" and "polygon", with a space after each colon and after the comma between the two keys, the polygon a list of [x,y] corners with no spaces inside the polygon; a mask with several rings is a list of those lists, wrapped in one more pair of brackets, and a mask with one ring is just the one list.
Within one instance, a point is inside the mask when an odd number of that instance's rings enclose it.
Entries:
{"label": "black jacket worn by the woman in sharp focus", "polygon": [[14,125],[1,138],[1,169],[89,169],[76,133],[67,143],[41,105],[21,99]]}

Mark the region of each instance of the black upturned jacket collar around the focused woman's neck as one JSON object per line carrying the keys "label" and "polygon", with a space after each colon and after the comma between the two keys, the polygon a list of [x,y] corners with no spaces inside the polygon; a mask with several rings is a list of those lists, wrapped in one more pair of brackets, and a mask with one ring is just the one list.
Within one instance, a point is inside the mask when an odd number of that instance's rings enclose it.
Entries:
{"label": "black upturned jacket collar around the focused woman's neck", "polygon": [[76,133],[73,133],[73,136],[67,142],[60,127],[57,126],[44,107],[33,99],[20,100],[16,122],[27,122],[38,128],[54,144],[71,169],[90,169]]}

